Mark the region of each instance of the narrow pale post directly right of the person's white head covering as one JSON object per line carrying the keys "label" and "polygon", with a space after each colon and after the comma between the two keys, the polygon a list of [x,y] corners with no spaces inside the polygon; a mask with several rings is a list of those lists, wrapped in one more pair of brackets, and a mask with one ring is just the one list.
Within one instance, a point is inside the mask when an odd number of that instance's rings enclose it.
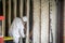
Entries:
{"label": "narrow pale post directly right of the person's white head covering", "polygon": [[27,31],[26,31],[26,43],[29,43],[29,0],[27,0]]}

